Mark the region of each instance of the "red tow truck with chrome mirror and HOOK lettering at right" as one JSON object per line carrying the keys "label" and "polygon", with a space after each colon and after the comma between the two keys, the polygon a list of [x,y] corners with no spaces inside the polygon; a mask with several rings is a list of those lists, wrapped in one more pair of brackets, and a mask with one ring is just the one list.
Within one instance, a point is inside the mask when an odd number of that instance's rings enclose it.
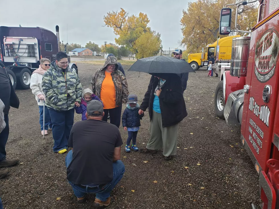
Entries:
{"label": "red tow truck with chrome mirror and HOOK lettering at right", "polygon": [[[258,0],[257,0],[258,1]],[[231,32],[231,9],[221,10],[219,33]],[[241,141],[259,175],[263,209],[279,208],[279,1],[260,0],[251,34],[232,41],[231,65],[224,67],[215,92],[215,109],[227,125],[241,126]],[[221,67],[222,69],[222,67]],[[256,208],[252,204],[252,208]]]}

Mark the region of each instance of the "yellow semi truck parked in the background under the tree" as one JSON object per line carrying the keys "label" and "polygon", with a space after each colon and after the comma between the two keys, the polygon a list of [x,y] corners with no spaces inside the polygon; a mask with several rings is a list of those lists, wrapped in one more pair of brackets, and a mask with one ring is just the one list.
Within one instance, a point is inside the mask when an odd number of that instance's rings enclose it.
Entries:
{"label": "yellow semi truck parked in the background under the tree", "polygon": [[209,44],[202,48],[202,53],[194,53],[188,55],[188,63],[194,70],[198,70],[200,67],[208,65],[208,59],[211,55],[218,60],[219,67],[221,65],[230,65],[231,61],[231,42],[233,38],[237,36],[227,36],[220,38],[214,44]]}

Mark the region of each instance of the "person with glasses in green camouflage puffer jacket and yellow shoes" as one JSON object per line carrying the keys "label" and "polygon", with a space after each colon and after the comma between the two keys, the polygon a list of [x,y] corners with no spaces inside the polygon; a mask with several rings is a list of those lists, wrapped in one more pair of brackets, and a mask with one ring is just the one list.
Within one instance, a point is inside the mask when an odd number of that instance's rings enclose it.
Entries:
{"label": "person with glasses in green camouflage puffer jacket and yellow shoes", "polygon": [[56,54],[56,61],[44,73],[42,80],[46,105],[52,120],[53,151],[60,154],[67,151],[67,143],[74,123],[75,106],[81,102],[81,82],[75,71],[68,66],[64,52]]}

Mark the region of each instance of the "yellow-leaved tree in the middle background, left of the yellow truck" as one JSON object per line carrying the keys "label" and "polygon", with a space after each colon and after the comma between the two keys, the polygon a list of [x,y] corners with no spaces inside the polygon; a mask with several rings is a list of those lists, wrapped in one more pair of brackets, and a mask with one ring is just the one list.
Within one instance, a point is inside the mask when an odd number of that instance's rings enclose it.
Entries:
{"label": "yellow-leaved tree in the middle background, left of the yellow truck", "polygon": [[[145,57],[147,54],[154,54],[158,51],[157,48],[161,46],[161,40],[154,41],[158,39],[158,37],[160,39],[160,35],[158,36],[155,31],[152,31],[151,28],[147,26],[149,19],[146,14],[140,12],[139,16],[129,16],[129,14],[121,8],[120,12],[108,12],[107,15],[104,16],[104,23],[107,27],[113,28],[114,34],[119,36],[115,38],[116,44],[126,46],[132,53],[136,53],[137,57],[139,53],[138,49],[142,49],[143,45],[147,47],[147,50],[151,51],[151,53],[141,53],[139,57]],[[147,35],[145,35],[145,33],[147,33]],[[136,40],[141,36],[143,37],[136,44]],[[156,47],[146,45],[146,41],[144,41],[146,37],[151,37],[153,43],[159,45]]]}

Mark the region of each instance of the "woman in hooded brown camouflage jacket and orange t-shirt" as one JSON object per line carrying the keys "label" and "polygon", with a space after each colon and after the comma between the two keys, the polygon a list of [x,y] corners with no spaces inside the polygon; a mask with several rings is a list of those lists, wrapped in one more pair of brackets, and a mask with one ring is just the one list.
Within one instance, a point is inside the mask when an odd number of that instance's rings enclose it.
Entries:
{"label": "woman in hooded brown camouflage jacket and orange t-shirt", "polygon": [[121,104],[127,102],[128,84],[125,76],[118,70],[116,57],[109,56],[102,68],[99,68],[91,80],[92,91],[104,104],[103,121],[120,126]]}

